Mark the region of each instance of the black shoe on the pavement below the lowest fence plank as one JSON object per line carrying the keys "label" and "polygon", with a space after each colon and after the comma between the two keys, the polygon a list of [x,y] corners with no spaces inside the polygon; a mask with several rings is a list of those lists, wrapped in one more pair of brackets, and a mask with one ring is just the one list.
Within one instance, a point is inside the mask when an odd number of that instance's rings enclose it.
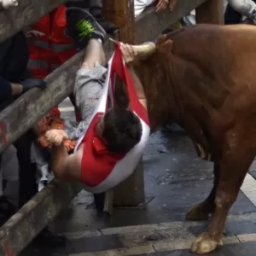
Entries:
{"label": "black shoe on the pavement below the lowest fence plank", "polygon": [[47,228],[32,241],[33,246],[39,247],[65,247],[67,238],[65,236],[55,236]]}

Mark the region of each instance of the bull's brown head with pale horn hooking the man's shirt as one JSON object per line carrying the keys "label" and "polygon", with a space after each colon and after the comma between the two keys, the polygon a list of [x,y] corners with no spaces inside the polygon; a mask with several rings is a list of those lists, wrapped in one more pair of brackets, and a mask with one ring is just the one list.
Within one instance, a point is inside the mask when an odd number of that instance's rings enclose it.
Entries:
{"label": "bull's brown head with pale horn hooking the man's shirt", "polygon": [[133,67],[143,84],[153,130],[167,118],[175,103],[171,87],[172,43],[172,39],[163,35],[156,44],[132,45],[135,53]]}

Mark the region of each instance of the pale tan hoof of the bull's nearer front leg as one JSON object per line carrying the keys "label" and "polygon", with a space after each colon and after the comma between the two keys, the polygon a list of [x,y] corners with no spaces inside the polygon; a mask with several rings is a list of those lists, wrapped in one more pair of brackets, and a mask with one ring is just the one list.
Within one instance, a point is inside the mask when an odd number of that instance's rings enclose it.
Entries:
{"label": "pale tan hoof of the bull's nearer front leg", "polygon": [[191,252],[197,254],[211,253],[218,246],[222,246],[223,243],[220,240],[214,239],[209,233],[202,233],[195,238],[192,244]]}

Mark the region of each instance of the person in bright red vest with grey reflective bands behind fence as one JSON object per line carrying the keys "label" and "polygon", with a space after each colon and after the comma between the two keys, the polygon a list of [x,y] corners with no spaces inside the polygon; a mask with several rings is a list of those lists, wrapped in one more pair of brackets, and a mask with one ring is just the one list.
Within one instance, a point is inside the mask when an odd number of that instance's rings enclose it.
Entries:
{"label": "person in bright red vest with grey reflective bands behind fence", "polygon": [[[73,40],[66,34],[68,22],[66,10],[71,7],[90,8],[90,11],[96,15],[97,20],[101,20],[102,26],[108,32],[113,32],[116,29],[116,26],[111,22],[104,21],[102,18],[102,0],[82,0],[59,6],[38,20],[32,26],[32,30],[27,33],[30,54],[28,68],[34,77],[44,79],[79,50],[73,46]],[[69,98],[75,107],[76,119],[80,121],[73,95]],[[52,112],[58,115],[61,114],[57,107],[53,108]]]}

